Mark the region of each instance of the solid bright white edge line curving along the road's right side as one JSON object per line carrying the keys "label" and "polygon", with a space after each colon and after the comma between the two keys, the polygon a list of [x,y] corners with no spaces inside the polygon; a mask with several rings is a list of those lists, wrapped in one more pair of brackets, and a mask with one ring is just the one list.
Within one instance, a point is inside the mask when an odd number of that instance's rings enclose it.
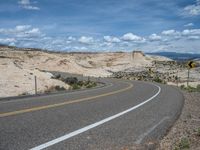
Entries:
{"label": "solid bright white edge line curving along the road's right side", "polygon": [[153,99],[154,99],[156,96],[158,96],[159,93],[161,92],[161,88],[160,88],[159,86],[157,86],[157,85],[154,85],[154,86],[156,86],[156,87],[158,88],[158,92],[157,92],[155,95],[153,95],[152,97],[150,97],[149,99],[145,100],[144,102],[142,102],[142,103],[140,103],[140,104],[138,104],[138,105],[136,105],[136,106],[133,106],[133,107],[131,107],[131,108],[129,108],[129,109],[123,111],[123,112],[120,112],[120,113],[118,113],[118,114],[115,114],[115,115],[113,115],[113,116],[110,116],[110,117],[108,117],[108,118],[105,118],[105,119],[103,119],[103,120],[101,120],[101,121],[98,121],[98,122],[96,122],[96,123],[94,123],[94,124],[88,125],[88,126],[86,126],[86,127],[83,127],[83,128],[81,128],[81,129],[78,129],[78,130],[73,131],[73,132],[71,132],[71,133],[67,133],[67,134],[65,134],[64,136],[61,136],[61,137],[56,138],[56,139],[54,139],[54,140],[51,140],[51,141],[49,141],[49,142],[47,142],[47,143],[41,144],[41,145],[39,145],[39,146],[36,146],[36,147],[32,148],[31,150],[41,150],[41,149],[45,149],[45,148],[47,148],[47,147],[50,147],[50,146],[52,146],[52,145],[54,145],[54,144],[57,144],[57,143],[59,143],[59,142],[62,142],[62,141],[64,141],[64,140],[67,140],[67,139],[69,139],[69,138],[71,138],[71,137],[74,137],[74,136],[76,136],[76,135],[78,135],[78,134],[81,134],[81,133],[83,133],[83,132],[86,132],[86,131],[88,131],[88,130],[90,130],[90,129],[92,129],[92,128],[95,128],[95,127],[97,127],[97,126],[100,126],[100,125],[102,125],[102,124],[104,124],[104,123],[106,123],[106,122],[109,122],[109,121],[111,121],[111,120],[113,120],[113,119],[115,119],[115,118],[118,118],[118,117],[120,117],[120,116],[122,116],[122,115],[124,115],[124,114],[126,114],[126,113],[129,113],[130,111],[133,111],[133,110],[135,110],[135,109],[141,107],[142,105],[144,105],[144,104],[148,103],[149,101],[153,100]]}

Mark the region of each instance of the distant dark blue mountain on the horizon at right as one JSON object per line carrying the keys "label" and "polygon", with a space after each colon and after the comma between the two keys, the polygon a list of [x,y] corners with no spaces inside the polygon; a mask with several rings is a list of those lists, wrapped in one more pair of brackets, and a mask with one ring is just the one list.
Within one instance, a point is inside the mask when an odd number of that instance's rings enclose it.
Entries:
{"label": "distant dark blue mountain on the horizon at right", "polygon": [[176,61],[200,59],[200,54],[191,54],[191,53],[155,52],[155,53],[146,53],[146,54],[165,56]]}

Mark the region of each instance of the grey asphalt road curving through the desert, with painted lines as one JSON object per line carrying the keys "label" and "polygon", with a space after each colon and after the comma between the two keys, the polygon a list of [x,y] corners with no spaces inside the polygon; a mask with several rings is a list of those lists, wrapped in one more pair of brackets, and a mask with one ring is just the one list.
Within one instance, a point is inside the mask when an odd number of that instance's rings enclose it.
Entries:
{"label": "grey asphalt road curving through the desert, with painted lines", "polygon": [[0,149],[123,149],[159,139],[181,112],[176,88],[101,80],[101,88],[0,101]]}

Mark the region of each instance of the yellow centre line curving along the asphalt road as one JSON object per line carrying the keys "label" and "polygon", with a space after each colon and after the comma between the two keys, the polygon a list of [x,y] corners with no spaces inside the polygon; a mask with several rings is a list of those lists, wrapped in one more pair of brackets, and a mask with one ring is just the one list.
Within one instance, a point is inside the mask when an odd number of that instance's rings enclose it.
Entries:
{"label": "yellow centre line curving along the asphalt road", "polygon": [[[125,83],[127,83],[127,82],[125,82]],[[126,87],[126,88],[123,88],[123,89],[120,89],[120,90],[116,90],[116,91],[113,91],[113,92],[108,92],[108,93],[96,95],[96,96],[85,97],[85,98],[76,99],[76,100],[72,100],[72,101],[56,103],[56,104],[50,104],[50,105],[45,105],[45,106],[38,106],[38,107],[33,107],[33,108],[28,108],[28,109],[21,109],[21,110],[16,110],[16,111],[12,111],[12,112],[0,113],[0,118],[1,117],[8,117],[8,116],[13,116],[13,115],[18,115],[18,114],[23,114],[23,113],[28,113],[28,112],[33,112],[33,111],[38,111],[38,110],[55,108],[55,107],[59,107],[59,106],[63,106],[63,105],[74,104],[74,103],[79,103],[79,102],[83,102],[83,101],[89,101],[89,100],[100,98],[100,97],[114,95],[114,94],[117,94],[117,93],[121,93],[121,92],[127,91],[127,90],[129,90],[129,89],[131,89],[133,87],[132,84],[130,84],[130,83],[127,83],[127,84],[129,84],[129,86]]]}

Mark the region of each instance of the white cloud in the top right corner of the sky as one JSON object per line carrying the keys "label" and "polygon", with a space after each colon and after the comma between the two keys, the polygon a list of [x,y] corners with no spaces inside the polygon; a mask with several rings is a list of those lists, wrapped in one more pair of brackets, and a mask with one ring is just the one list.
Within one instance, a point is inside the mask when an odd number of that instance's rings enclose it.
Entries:
{"label": "white cloud in the top right corner of the sky", "polygon": [[184,7],[181,13],[182,16],[191,17],[200,15],[200,0],[196,0],[193,5],[188,5]]}

